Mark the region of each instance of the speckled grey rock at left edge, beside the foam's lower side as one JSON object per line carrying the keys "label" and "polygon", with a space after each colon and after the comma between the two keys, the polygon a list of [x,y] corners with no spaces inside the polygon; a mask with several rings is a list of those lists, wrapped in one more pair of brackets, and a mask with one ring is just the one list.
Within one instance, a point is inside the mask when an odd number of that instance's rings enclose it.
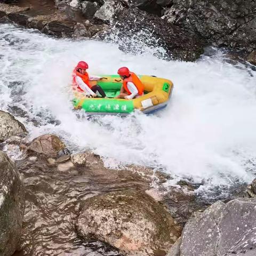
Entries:
{"label": "speckled grey rock at left edge, beside the foam's lower side", "polygon": [[0,141],[24,133],[27,133],[27,130],[22,123],[11,114],[0,110]]}

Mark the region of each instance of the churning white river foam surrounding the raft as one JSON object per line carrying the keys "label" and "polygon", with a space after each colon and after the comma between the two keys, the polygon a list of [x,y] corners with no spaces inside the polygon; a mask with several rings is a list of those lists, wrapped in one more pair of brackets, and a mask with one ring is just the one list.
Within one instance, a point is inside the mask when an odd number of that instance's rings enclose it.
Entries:
{"label": "churning white river foam surrounding the raft", "polygon": [[[252,180],[256,80],[250,68],[228,63],[220,51],[195,63],[165,61],[151,51],[129,55],[117,44],[53,39],[11,25],[1,25],[0,33],[0,104],[27,113],[20,119],[31,137],[57,133],[72,145],[93,149],[108,164],[149,165],[197,182]],[[79,60],[89,63],[91,74],[116,74],[127,66],[171,79],[169,106],[150,116],[81,118],[72,110],[69,86]]]}

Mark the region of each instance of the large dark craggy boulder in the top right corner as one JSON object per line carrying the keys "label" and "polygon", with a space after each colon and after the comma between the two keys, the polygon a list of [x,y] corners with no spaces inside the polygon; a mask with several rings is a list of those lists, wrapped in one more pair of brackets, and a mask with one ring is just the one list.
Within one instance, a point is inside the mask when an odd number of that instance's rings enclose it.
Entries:
{"label": "large dark craggy boulder in the top right corner", "polygon": [[255,1],[173,0],[163,18],[208,43],[250,52],[256,49],[255,13]]}

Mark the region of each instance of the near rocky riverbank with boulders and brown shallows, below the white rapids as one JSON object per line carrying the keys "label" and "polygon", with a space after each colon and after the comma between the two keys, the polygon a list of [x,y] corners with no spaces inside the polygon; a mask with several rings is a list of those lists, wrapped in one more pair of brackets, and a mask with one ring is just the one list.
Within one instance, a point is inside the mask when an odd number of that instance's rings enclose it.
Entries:
{"label": "near rocky riverbank with boulders and brown shallows, below the white rapids", "polygon": [[109,169],[90,151],[71,154],[52,134],[31,141],[25,126],[4,111],[0,134],[2,150],[10,156],[20,152],[14,164],[0,151],[4,255],[15,249],[13,255],[20,256],[256,252],[255,182],[244,198],[207,208],[187,182],[166,190],[171,177],[164,173],[133,165]]}

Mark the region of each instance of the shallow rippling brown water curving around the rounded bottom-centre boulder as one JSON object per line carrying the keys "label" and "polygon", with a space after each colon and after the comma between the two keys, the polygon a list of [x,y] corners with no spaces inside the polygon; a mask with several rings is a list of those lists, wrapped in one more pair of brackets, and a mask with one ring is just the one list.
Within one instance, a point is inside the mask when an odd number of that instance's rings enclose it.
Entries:
{"label": "shallow rippling brown water curving around the rounded bottom-centre boulder", "polygon": [[40,156],[18,161],[17,166],[25,184],[26,207],[21,251],[15,256],[121,255],[101,242],[82,242],[77,237],[79,208],[86,198],[108,191],[146,190],[148,180],[138,173],[108,170],[96,163],[59,170],[59,164],[51,165]]}

